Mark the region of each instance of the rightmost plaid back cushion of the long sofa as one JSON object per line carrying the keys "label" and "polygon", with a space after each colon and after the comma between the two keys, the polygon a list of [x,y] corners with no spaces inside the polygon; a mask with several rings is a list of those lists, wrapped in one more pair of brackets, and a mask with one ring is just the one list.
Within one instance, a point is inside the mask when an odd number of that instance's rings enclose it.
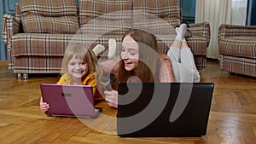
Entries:
{"label": "rightmost plaid back cushion of the long sofa", "polygon": [[156,34],[172,34],[180,23],[178,0],[133,1],[133,27],[147,27]]}

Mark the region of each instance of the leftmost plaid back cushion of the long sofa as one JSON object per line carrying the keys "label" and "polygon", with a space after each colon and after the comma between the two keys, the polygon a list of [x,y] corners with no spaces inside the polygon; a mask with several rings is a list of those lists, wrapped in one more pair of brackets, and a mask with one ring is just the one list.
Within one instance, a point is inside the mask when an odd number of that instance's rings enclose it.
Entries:
{"label": "leftmost plaid back cushion of the long sofa", "polygon": [[75,0],[20,0],[24,32],[76,33],[79,16]]}

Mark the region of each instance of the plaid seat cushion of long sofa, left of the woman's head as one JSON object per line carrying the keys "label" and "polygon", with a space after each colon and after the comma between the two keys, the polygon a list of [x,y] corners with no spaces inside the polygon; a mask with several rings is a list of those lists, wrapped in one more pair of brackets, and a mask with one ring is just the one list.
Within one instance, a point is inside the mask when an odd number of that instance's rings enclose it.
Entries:
{"label": "plaid seat cushion of long sofa, left of the woman's head", "polygon": [[121,35],[96,37],[96,35],[80,34],[19,33],[12,37],[13,55],[62,57],[70,43],[83,43],[87,48],[95,43],[101,43],[107,47],[109,38],[115,38],[119,43],[121,37]]}

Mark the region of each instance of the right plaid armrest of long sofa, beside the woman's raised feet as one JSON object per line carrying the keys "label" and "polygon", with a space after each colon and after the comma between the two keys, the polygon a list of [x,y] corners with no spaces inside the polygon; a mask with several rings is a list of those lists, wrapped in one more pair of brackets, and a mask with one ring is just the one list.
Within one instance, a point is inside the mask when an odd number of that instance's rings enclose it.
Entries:
{"label": "right plaid armrest of long sofa, beside the woman's raised feet", "polygon": [[189,24],[189,31],[192,33],[192,36],[200,36],[205,37],[207,39],[207,46],[210,43],[210,37],[211,37],[211,29],[210,24],[205,22],[195,23],[195,24]]}

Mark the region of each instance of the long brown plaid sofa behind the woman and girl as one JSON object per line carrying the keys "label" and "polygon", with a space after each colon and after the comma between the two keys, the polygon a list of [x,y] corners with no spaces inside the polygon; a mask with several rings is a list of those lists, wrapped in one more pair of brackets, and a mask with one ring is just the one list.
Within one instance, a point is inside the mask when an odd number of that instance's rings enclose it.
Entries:
{"label": "long brown plaid sofa behind the woman and girl", "polygon": [[[9,69],[15,73],[60,73],[68,43],[96,43],[107,49],[108,39],[120,38],[131,28],[141,28],[158,38],[159,52],[166,54],[173,42],[173,27],[181,21],[178,0],[20,0],[15,15],[4,14],[3,42],[7,45]],[[191,24],[187,37],[198,68],[206,66],[210,26]],[[119,47],[117,52],[119,52]]]}

